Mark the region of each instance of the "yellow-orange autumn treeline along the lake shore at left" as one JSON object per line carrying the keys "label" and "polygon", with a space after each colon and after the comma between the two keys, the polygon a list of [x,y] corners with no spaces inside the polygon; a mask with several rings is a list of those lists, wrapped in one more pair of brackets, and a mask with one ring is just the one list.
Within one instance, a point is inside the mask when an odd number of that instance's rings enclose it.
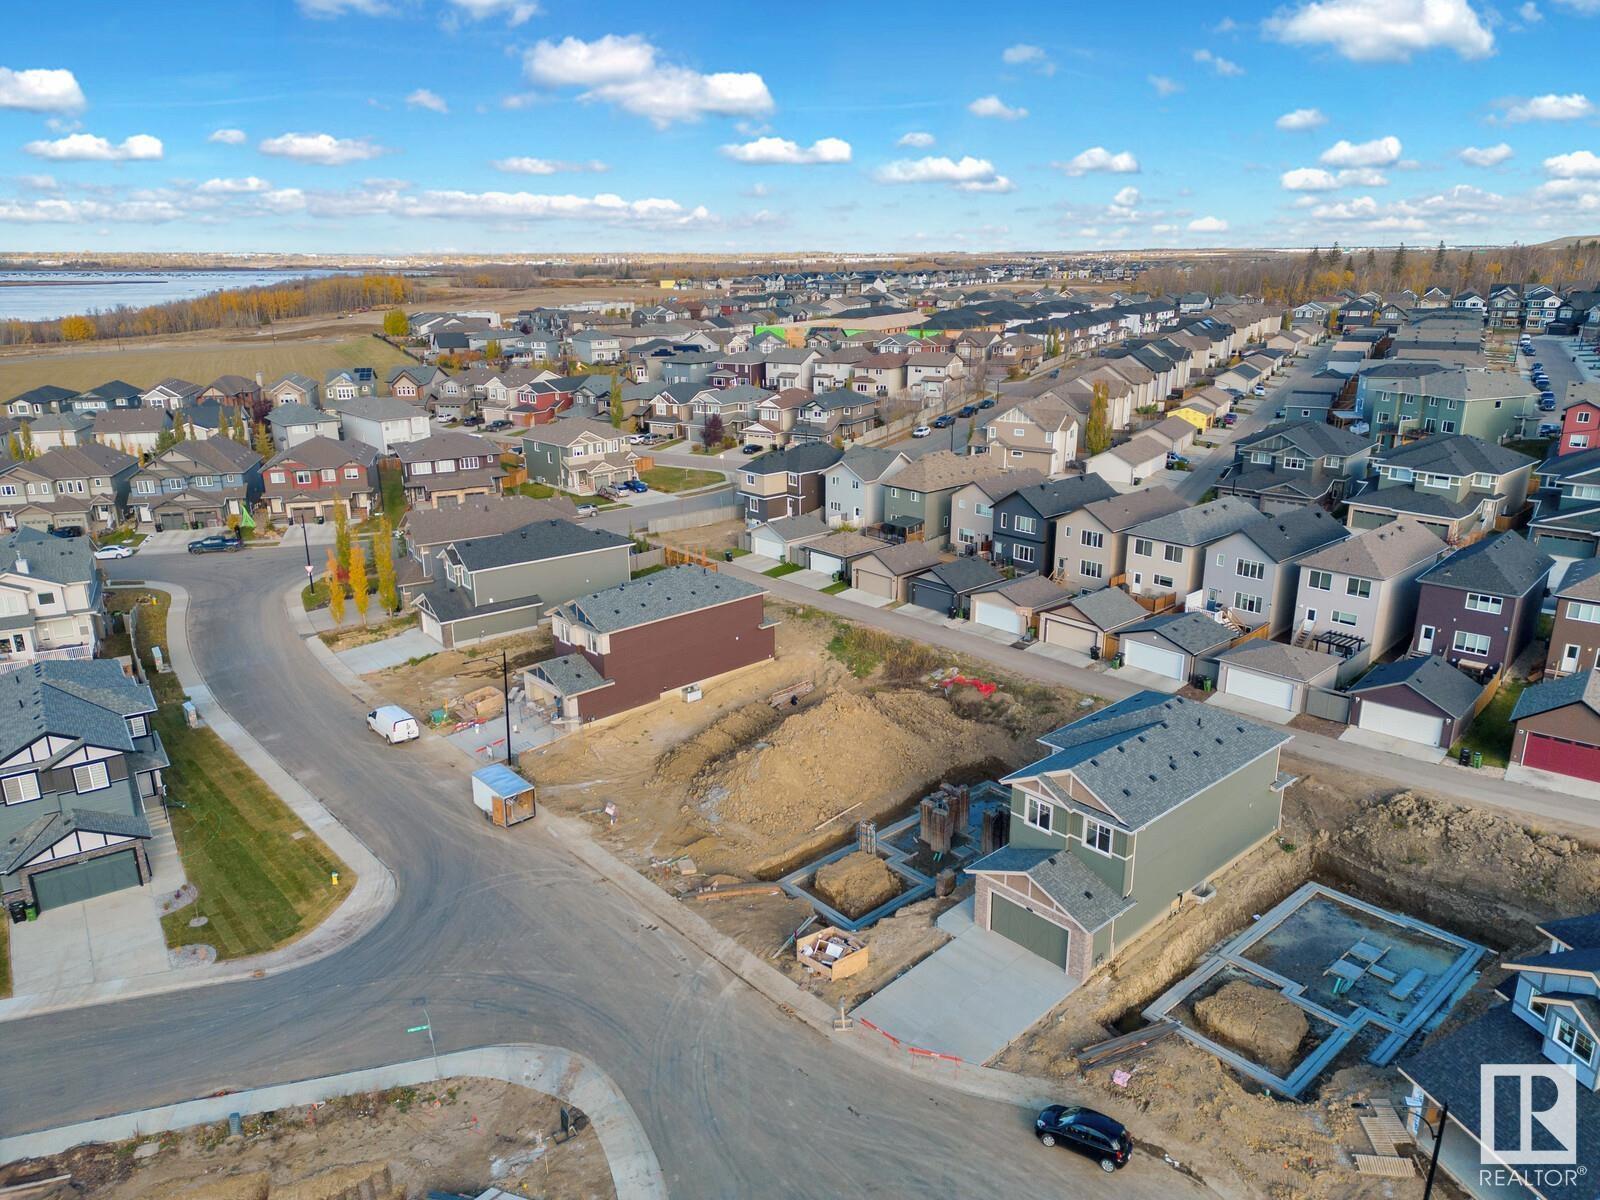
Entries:
{"label": "yellow-orange autumn treeline along the lake shore at left", "polygon": [[326,275],[259,288],[213,291],[144,309],[123,306],[46,322],[0,320],[0,346],[48,346],[197,330],[258,328],[290,317],[387,307],[416,299],[419,294],[418,283],[405,275]]}

